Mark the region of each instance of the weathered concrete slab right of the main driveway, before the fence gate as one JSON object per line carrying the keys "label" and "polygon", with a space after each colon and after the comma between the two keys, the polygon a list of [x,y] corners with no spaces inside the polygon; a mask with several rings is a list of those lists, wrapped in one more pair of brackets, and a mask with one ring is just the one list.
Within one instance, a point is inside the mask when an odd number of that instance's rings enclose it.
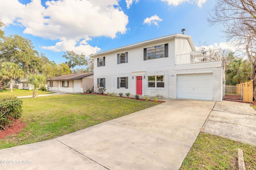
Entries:
{"label": "weathered concrete slab right of the main driveway, before the fence gate", "polygon": [[246,103],[216,102],[203,132],[256,146],[256,111]]}

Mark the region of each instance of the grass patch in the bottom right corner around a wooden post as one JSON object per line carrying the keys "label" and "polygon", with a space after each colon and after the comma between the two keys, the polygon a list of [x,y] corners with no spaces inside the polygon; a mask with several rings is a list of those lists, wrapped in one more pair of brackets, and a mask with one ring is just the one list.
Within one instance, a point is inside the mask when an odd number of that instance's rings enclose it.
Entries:
{"label": "grass patch in the bottom right corner around a wooden post", "polygon": [[180,170],[238,170],[238,148],[246,170],[255,170],[256,146],[207,133],[198,135]]}

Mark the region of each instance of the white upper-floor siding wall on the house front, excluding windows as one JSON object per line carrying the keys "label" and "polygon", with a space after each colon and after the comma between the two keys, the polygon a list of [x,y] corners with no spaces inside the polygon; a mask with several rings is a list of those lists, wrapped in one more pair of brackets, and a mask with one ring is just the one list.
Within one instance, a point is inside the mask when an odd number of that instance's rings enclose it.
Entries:
{"label": "white upper-floor siding wall on the house front, excluding windows", "polygon": [[[162,45],[168,43],[168,57],[160,59],[151,59],[144,61],[143,49],[156,45]],[[117,64],[117,54],[128,52],[128,63]],[[106,57],[105,66],[97,67],[97,58]],[[103,76],[113,74],[118,70],[120,74],[126,74],[127,72],[138,72],[138,71],[152,71],[161,69],[174,69],[175,63],[175,52],[174,52],[174,39],[170,41],[162,41],[160,43],[153,43],[137,47],[134,49],[128,49],[125,51],[118,51],[116,53],[110,53],[94,57],[94,75]],[[94,77],[94,84],[97,79]]]}

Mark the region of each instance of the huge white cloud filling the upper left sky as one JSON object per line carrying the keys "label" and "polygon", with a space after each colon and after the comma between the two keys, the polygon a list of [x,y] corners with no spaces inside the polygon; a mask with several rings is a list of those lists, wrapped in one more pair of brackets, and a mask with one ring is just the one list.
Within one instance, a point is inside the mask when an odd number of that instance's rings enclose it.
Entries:
{"label": "huge white cloud filling the upper left sky", "polygon": [[115,38],[118,33],[126,33],[128,24],[128,16],[118,7],[118,0],[52,0],[46,1],[46,8],[40,0],[26,5],[5,0],[1,2],[0,19],[7,26],[22,25],[24,33],[59,40],[44,49],[77,50],[84,54],[99,50],[88,45],[90,37]]}

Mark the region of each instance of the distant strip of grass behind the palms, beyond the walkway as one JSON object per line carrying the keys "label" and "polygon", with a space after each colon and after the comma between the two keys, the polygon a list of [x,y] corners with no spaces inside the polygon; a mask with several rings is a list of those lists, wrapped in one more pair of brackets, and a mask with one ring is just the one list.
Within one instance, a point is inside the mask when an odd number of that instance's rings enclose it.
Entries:
{"label": "distant strip of grass behind the palms, beyond the walkway", "polygon": [[[10,88],[6,90],[0,90],[0,95],[13,95],[13,96],[32,96],[33,90],[24,90],[24,89],[13,89],[13,92],[10,92]],[[44,92],[38,90],[38,94],[52,94],[52,92]]]}

